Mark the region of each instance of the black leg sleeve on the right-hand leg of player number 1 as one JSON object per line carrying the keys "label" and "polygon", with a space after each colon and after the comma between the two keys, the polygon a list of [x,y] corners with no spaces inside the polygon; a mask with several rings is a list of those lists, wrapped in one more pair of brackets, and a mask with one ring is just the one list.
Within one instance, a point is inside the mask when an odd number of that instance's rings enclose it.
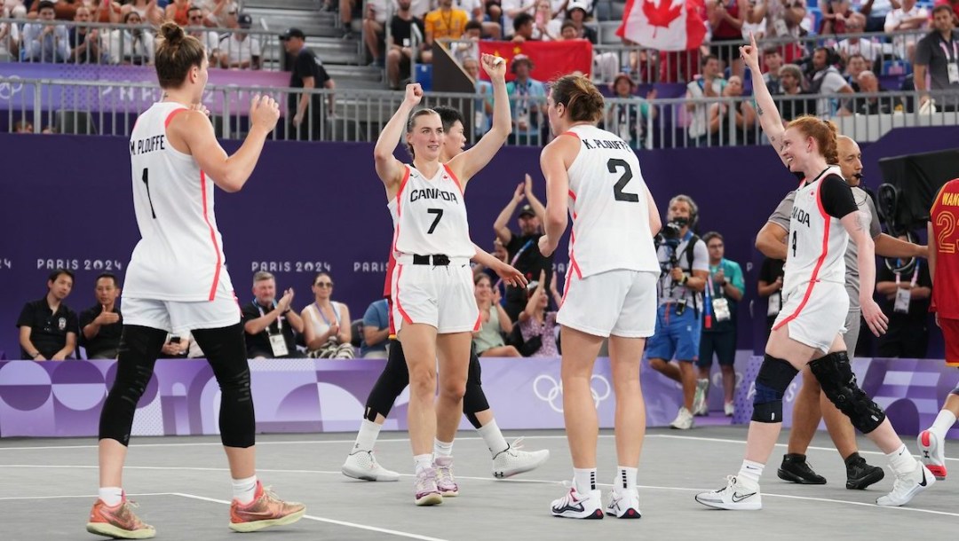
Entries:
{"label": "black leg sleeve on the right-hand leg of player number 1", "polygon": [[220,440],[227,447],[252,447],[256,442],[256,416],[243,325],[198,328],[193,337],[220,384]]}

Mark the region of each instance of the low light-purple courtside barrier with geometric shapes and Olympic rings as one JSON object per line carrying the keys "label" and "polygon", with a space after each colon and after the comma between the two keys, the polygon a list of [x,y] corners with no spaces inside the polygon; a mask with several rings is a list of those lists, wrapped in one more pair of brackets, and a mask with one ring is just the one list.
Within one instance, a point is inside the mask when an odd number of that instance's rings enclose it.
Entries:
{"label": "low light-purple courtside barrier with geometric shapes and Olympic rings", "polygon": [[[739,372],[748,364],[743,355]],[[257,430],[341,432],[360,426],[363,403],[384,361],[269,359],[250,362]],[[504,429],[563,428],[559,359],[482,359],[483,389]],[[0,362],[0,435],[96,436],[113,361]],[[600,359],[593,396],[603,427],[613,426],[609,361]],[[677,384],[643,364],[649,426],[676,415]],[[721,398],[718,398],[721,410]],[[396,401],[387,430],[407,429],[409,392]],[[218,434],[220,391],[206,361],[161,360],[133,421],[139,436]],[[462,422],[468,429],[469,423]]]}

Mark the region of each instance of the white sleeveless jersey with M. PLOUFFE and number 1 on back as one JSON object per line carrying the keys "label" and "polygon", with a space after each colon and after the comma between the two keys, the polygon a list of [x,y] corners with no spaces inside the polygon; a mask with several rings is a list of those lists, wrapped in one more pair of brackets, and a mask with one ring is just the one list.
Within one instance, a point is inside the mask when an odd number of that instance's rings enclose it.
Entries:
{"label": "white sleeveless jersey with M. PLOUFFE and number 1 on back", "polygon": [[130,256],[125,297],[199,302],[233,291],[213,211],[214,183],[193,156],[167,141],[167,124],[183,110],[180,103],[153,103],[130,135],[141,239]]}

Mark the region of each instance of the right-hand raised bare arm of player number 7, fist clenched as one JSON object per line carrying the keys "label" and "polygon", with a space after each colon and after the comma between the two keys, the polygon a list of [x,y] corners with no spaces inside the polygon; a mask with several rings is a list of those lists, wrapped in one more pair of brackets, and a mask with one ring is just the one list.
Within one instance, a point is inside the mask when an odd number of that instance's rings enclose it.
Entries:
{"label": "right-hand raised bare arm of player number 7, fist clenched", "polygon": [[509,114],[509,97],[506,95],[506,62],[500,56],[483,55],[480,58],[482,69],[493,82],[493,127],[469,150],[450,160],[456,178],[466,190],[466,184],[479,169],[493,159],[503,147],[506,138],[513,131],[512,116]]}

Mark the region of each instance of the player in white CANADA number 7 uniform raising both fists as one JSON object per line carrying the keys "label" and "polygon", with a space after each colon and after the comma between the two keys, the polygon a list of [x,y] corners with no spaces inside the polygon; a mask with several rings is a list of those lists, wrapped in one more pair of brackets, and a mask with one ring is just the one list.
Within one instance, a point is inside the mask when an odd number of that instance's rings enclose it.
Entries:
{"label": "player in white CANADA number 7 uniform raising both fists", "polygon": [[[458,491],[450,476],[452,458],[434,461],[433,440],[454,440],[462,415],[471,332],[479,328],[469,266],[476,248],[469,236],[463,191],[511,131],[505,63],[491,55],[483,55],[481,62],[493,83],[494,110],[493,127],[479,143],[446,164],[440,162],[442,121],[430,109],[410,115],[423,98],[422,88],[410,84],[373,151],[393,215],[397,264],[392,277],[392,310],[409,367],[409,439],[418,506],[440,504],[443,493],[455,496]],[[393,157],[403,124],[408,124],[411,165]],[[434,398],[437,358],[438,399]]]}

